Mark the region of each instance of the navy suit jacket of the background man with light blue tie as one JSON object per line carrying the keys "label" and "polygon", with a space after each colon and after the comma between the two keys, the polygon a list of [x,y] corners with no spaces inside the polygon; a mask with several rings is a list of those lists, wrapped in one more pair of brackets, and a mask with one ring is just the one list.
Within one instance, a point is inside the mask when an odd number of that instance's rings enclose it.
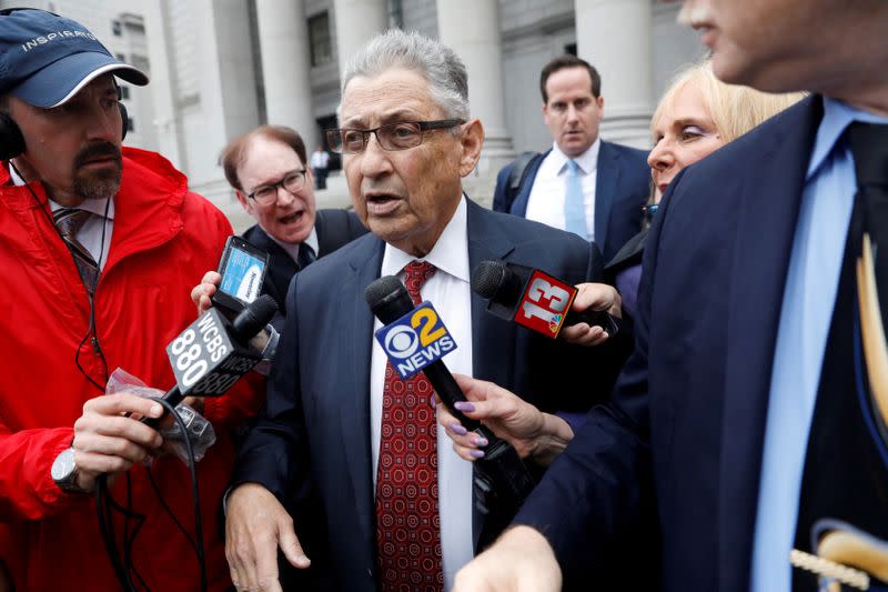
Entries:
{"label": "navy suit jacket of the background man with light blue tie", "polygon": [[[536,179],[543,158],[536,158],[527,165],[524,181],[508,203],[506,188],[514,162],[507,164],[496,175],[493,209],[514,213],[524,218],[527,200]],[[642,228],[642,207],[650,195],[650,167],[647,152],[602,141],[598,150],[598,169],[595,180],[595,243],[602,250],[605,261],[609,261],[623,244]]]}

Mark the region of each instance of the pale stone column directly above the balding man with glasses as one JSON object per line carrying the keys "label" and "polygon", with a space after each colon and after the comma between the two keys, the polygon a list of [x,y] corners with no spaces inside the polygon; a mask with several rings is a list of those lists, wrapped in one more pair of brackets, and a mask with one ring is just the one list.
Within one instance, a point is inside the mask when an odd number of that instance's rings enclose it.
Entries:
{"label": "pale stone column directly above the balding man with glasses", "polygon": [[256,0],[256,21],[269,123],[295,129],[311,153],[319,132],[304,1]]}

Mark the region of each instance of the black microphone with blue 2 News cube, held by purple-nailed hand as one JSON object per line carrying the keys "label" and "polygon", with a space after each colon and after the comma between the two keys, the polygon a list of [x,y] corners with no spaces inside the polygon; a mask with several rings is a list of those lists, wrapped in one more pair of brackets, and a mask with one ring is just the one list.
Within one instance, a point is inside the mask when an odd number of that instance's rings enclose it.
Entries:
{"label": "black microphone with blue 2 News cube, held by purple-nailed hand", "polygon": [[[402,317],[414,313],[413,301],[406,288],[394,275],[384,275],[371,283],[364,292],[364,298],[373,314],[385,325],[393,325]],[[434,313],[434,309],[425,305],[421,305],[415,310],[421,313],[431,310]],[[414,313],[414,315],[417,318],[428,317],[428,313]],[[434,317],[435,321],[437,321],[436,313],[434,313]],[[396,327],[400,328],[401,325]],[[414,324],[414,327],[417,325]],[[441,327],[443,329],[443,324]],[[423,330],[421,330],[421,335],[428,329],[433,329],[433,327],[424,325]],[[444,343],[445,340],[451,339],[446,334],[446,330],[442,331],[442,333],[444,335],[438,338],[438,342]],[[392,334],[392,332],[390,331],[389,334]],[[417,337],[416,340],[420,341],[421,337]],[[428,342],[426,344],[430,345],[428,349],[434,345],[434,343]],[[450,348],[444,345],[442,349],[446,353],[446,351],[455,347],[455,344]],[[383,349],[386,350],[391,358],[392,355],[389,351],[391,348],[384,345]],[[414,354],[413,358],[417,355],[421,355],[421,352]],[[394,359],[392,362],[395,364]],[[401,372],[400,369],[398,372]],[[481,422],[466,418],[454,408],[457,401],[465,401],[466,398],[463,391],[460,390],[460,385],[456,384],[451,371],[444,365],[444,362],[441,360],[431,361],[422,367],[422,372],[432,383],[432,388],[434,388],[438,399],[447,405],[450,412],[460,420],[463,427],[466,430],[477,432],[488,442],[484,451],[484,458],[475,461],[475,505],[480,512],[488,515],[487,520],[491,528],[496,529],[496,532],[498,532],[500,529],[505,528],[512,521],[518,506],[533,489],[534,481],[531,478],[531,473],[512,444],[501,440],[490,429],[482,425]]]}

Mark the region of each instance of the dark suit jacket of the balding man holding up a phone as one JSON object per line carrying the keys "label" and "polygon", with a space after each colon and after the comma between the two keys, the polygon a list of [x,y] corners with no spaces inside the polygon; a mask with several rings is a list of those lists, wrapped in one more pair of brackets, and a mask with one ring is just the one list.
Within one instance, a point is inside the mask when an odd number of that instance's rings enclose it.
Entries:
{"label": "dark suit jacket of the balding man holding up a phone", "polygon": [[[317,231],[319,259],[367,232],[354,212],[345,210],[317,210],[314,229]],[[262,293],[271,294],[278,302],[278,310],[283,312],[286,289],[290,288],[290,280],[300,270],[299,264],[259,224],[246,229],[243,238],[253,247],[269,253]]]}

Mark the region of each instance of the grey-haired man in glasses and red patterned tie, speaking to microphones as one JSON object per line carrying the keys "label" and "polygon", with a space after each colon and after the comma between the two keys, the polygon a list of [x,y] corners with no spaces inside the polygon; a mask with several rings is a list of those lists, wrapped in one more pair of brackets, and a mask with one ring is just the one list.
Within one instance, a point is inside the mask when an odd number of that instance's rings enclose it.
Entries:
{"label": "grey-haired man in glasses and red patterned tie, speaking to microphones", "polygon": [[[372,234],[291,284],[266,410],[228,500],[239,586],[273,585],[279,546],[307,566],[302,543],[321,589],[442,590],[487,526],[474,509],[472,464],[435,430],[431,387],[393,377],[373,340],[363,294],[381,275],[404,278],[434,303],[458,345],[444,359],[451,370],[509,384],[545,410],[588,408],[608,391],[619,365],[612,344],[577,348],[524,331],[470,290],[471,270],[488,259],[576,283],[597,279],[602,258],[578,237],[463,194],[484,138],[467,92],[453,51],[415,33],[380,36],[349,64],[342,129],[329,140]],[[604,308],[618,307],[613,288],[599,288],[610,295]],[[591,368],[598,378],[576,389]],[[305,503],[291,520],[279,500],[294,490]]]}

